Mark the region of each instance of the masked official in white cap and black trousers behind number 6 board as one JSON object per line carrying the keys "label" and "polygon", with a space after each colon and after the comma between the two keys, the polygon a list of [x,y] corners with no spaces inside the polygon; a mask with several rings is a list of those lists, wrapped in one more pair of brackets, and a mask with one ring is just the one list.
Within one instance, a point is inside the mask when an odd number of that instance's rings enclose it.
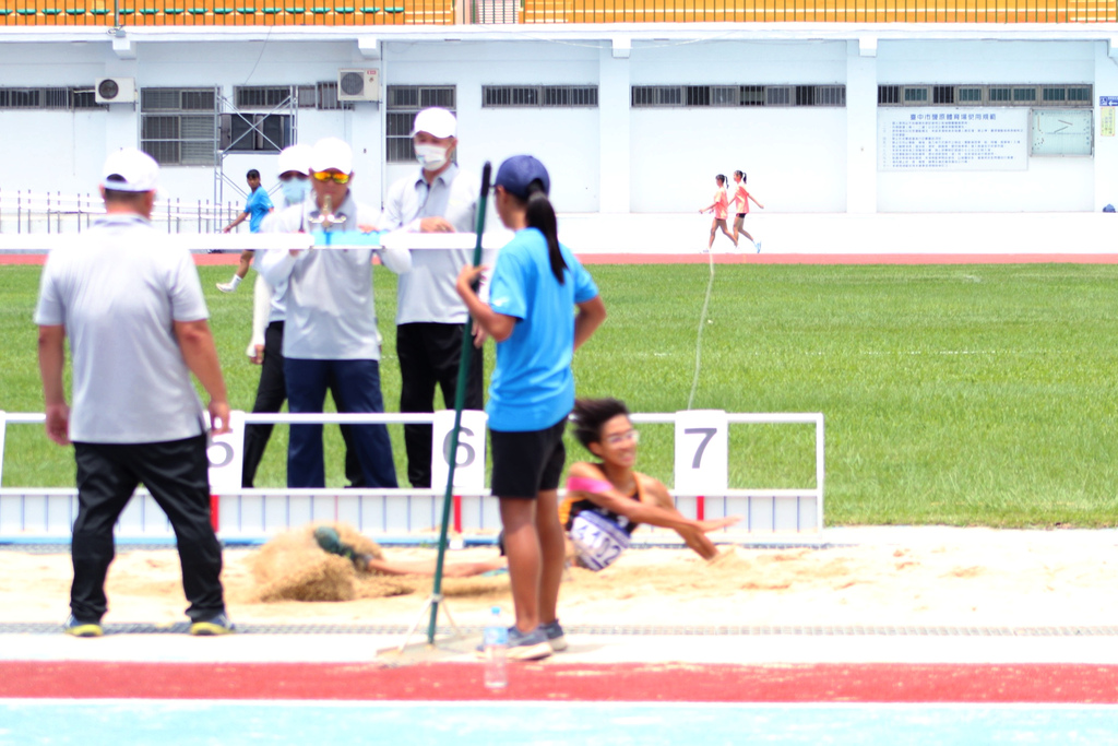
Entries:
{"label": "masked official in white cap and black trousers behind number 6 board", "polygon": [[[475,229],[476,181],[461,174],[454,162],[457,124],[445,108],[425,108],[416,115],[411,143],[419,168],[388,190],[378,228],[415,233]],[[458,271],[472,261],[473,251],[467,248],[417,249],[411,252],[411,271],[400,275],[396,305],[400,412],[433,412],[436,386],[443,391],[444,406],[454,406],[463,324],[468,317],[454,284]],[[484,263],[492,266],[492,257]],[[481,343],[482,338],[475,337],[475,344]],[[471,363],[465,406],[481,409],[482,356],[471,356]],[[430,487],[430,425],[404,427],[411,487]]]}

